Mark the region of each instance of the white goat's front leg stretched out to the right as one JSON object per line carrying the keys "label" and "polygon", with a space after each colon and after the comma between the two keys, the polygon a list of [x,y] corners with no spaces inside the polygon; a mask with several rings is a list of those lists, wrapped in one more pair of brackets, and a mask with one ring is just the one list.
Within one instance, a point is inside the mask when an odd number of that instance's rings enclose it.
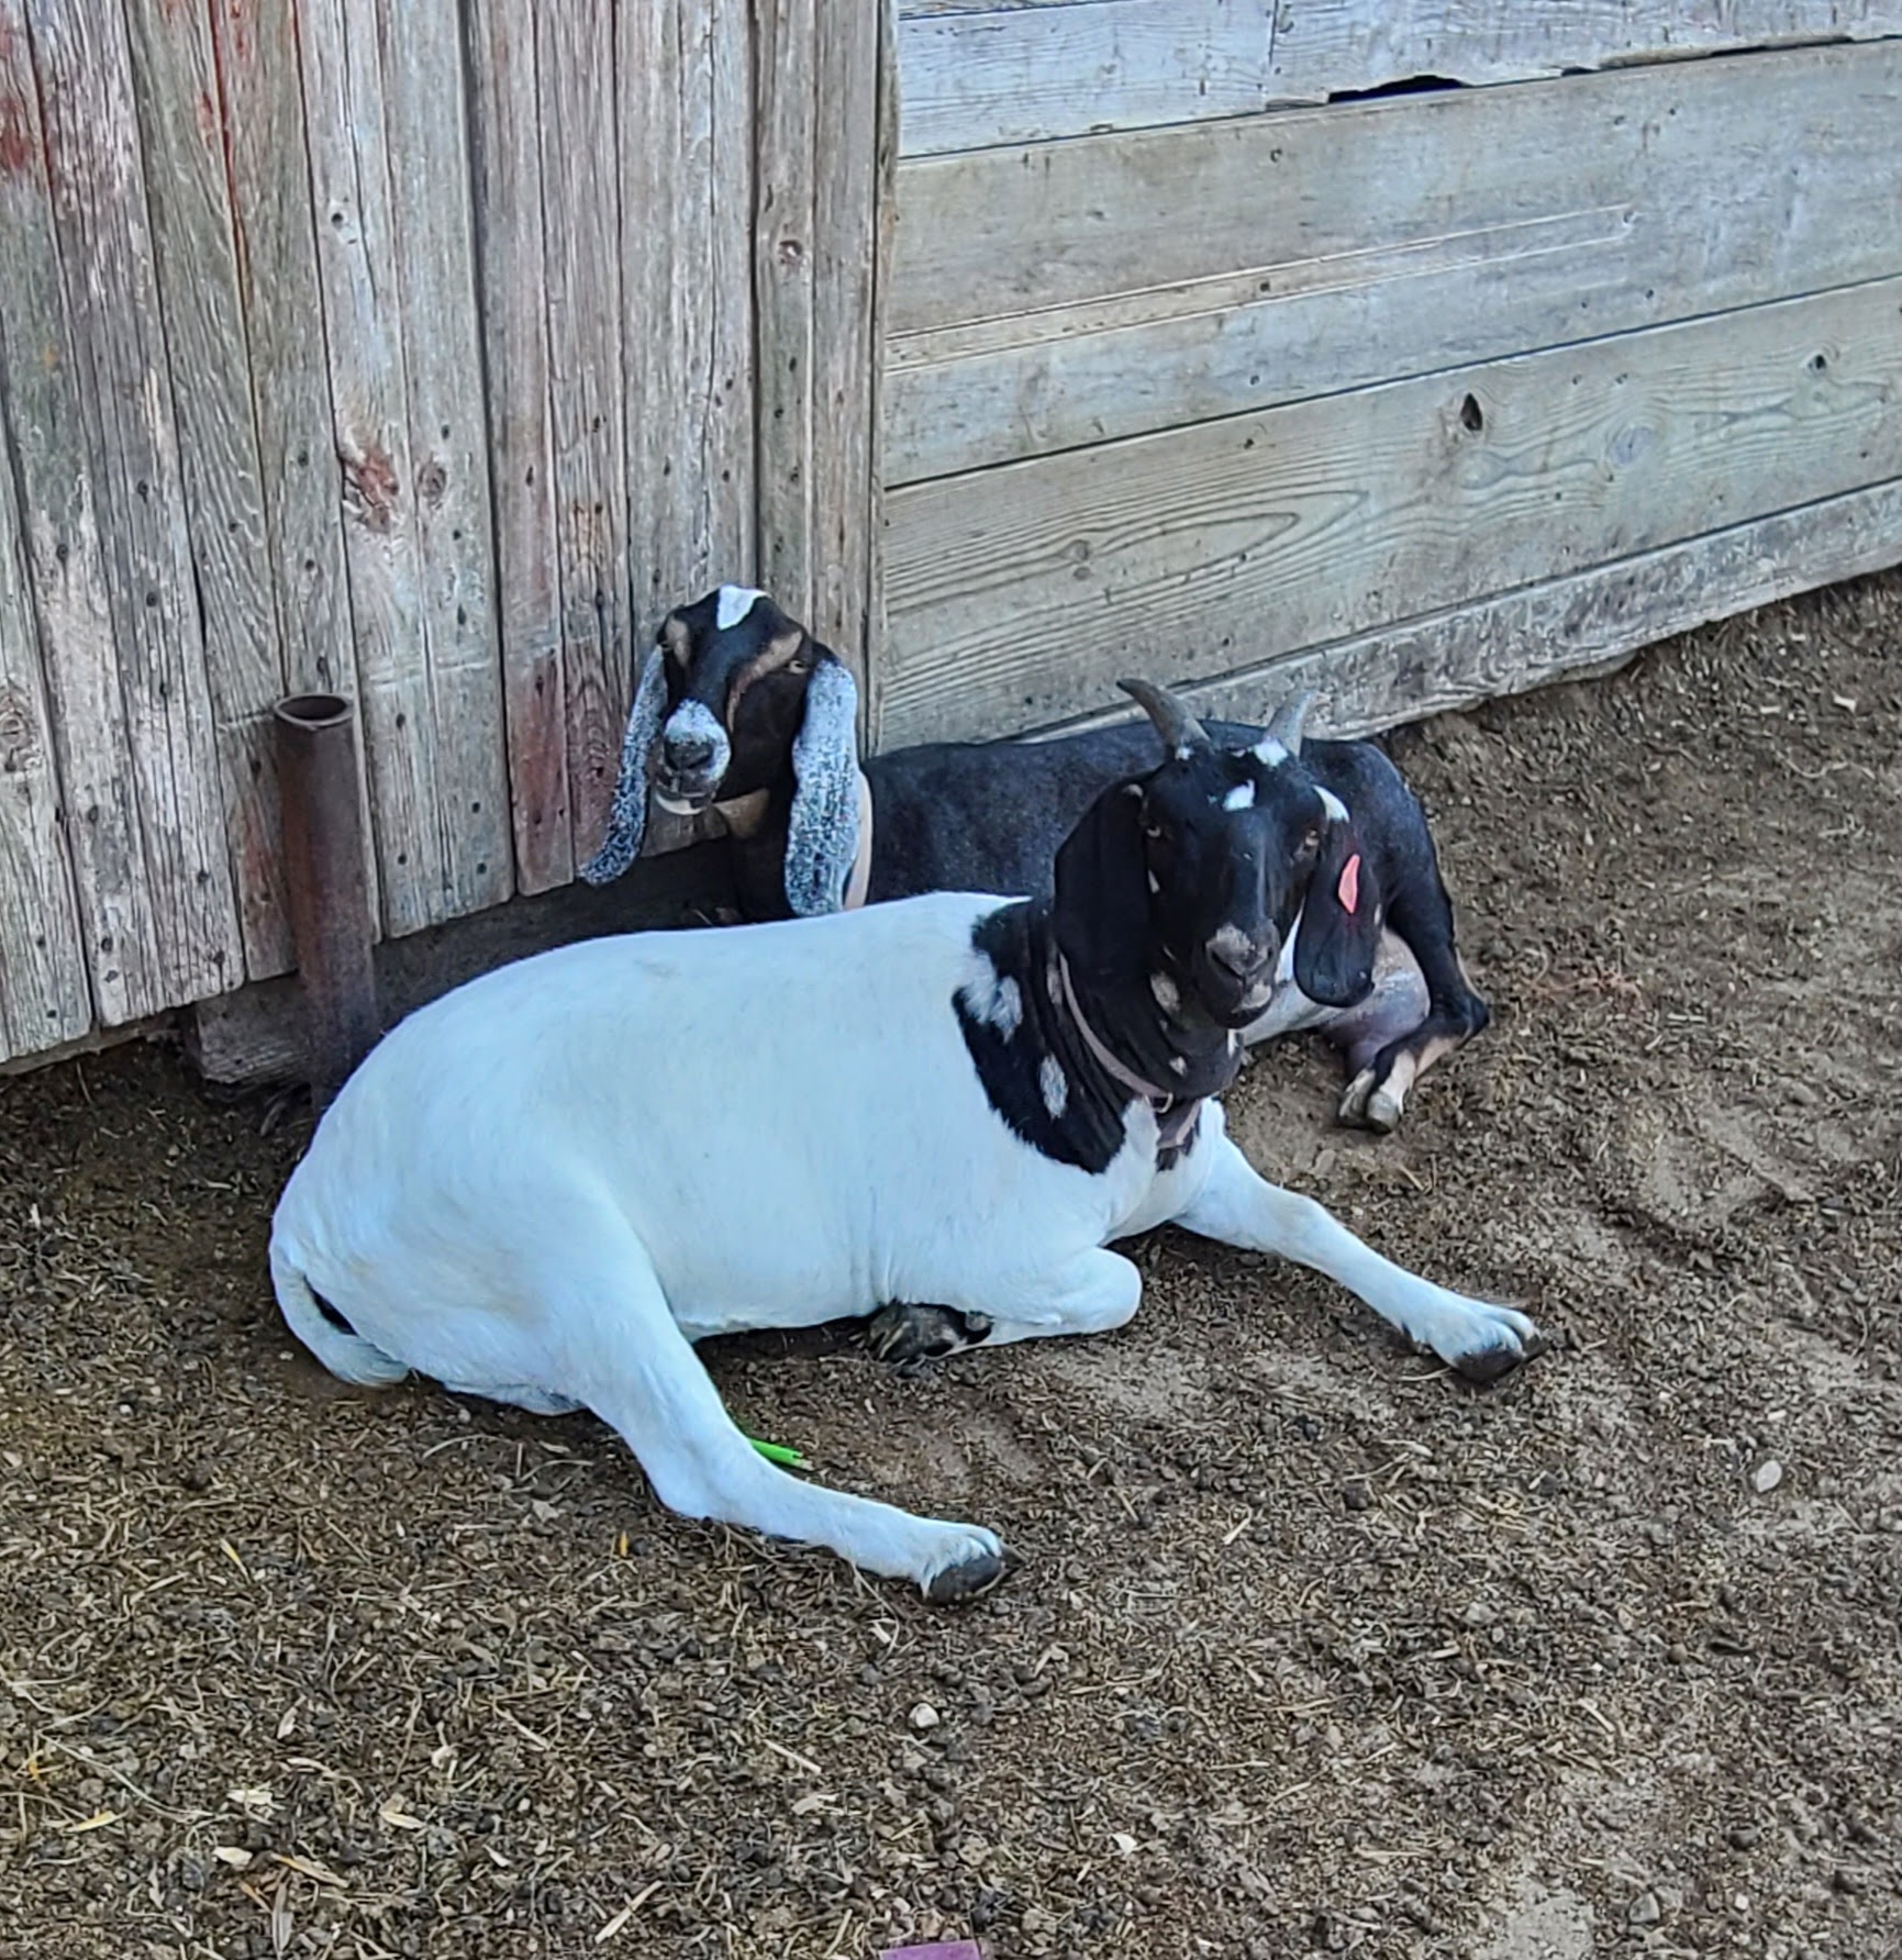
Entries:
{"label": "white goat's front leg stretched out to the right", "polygon": [[1204,1239],[1278,1252],[1326,1272],[1408,1341],[1431,1348],[1475,1382],[1502,1376],[1543,1347],[1539,1329],[1524,1313],[1467,1299],[1382,1258],[1326,1205],[1257,1176],[1227,1137],[1218,1139],[1208,1182],[1175,1223]]}

